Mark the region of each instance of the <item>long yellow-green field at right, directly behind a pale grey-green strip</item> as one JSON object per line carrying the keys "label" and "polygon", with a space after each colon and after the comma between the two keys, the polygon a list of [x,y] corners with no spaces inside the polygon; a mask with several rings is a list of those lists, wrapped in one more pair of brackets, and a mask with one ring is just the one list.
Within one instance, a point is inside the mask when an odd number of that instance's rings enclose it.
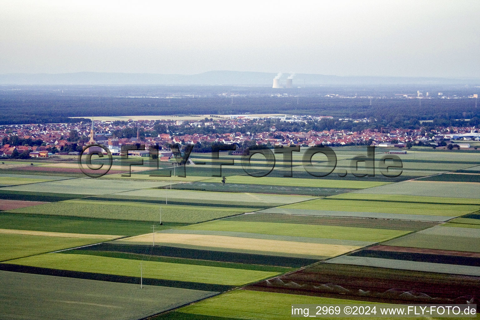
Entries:
{"label": "long yellow-green field at right, directly behind a pale grey-green strip", "polygon": [[288,204],[285,206],[281,206],[280,208],[351,212],[408,213],[446,216],[458,216],[471,213],[479,209],[479,207],[475,205],[452,206],[448,204],[336,199],[316,199],[294,204]]}

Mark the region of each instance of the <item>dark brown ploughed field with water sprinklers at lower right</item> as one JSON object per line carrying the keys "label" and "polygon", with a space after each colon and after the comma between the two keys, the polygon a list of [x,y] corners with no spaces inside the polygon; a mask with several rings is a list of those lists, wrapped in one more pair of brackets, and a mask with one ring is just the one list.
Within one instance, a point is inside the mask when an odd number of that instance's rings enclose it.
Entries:
{"label": "dark brown ploughed field with water sprinklers at lower right", "polygon": [[480,277],[319,263],[249,290],[383,303],[479,303]]}

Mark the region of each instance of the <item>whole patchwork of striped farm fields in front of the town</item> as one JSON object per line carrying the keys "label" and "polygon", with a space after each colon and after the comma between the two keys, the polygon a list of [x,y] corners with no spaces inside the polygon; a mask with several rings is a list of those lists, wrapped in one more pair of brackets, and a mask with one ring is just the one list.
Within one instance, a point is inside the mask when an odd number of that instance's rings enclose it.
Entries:
{"label": "whole patchwork of striped farm fields in front of the town", "polygon": [[[197,164],[185,166],[185,178],[181,167],[152,177],[172,163],[157,170],[146,159],[124,177],[118,157],[101,178],[77,178],[74,159],[2,171],[0,277],[24,282],[0,289],[11,295],[0,318],[42,295],[50,300],[22,316],[142,319],[173,310],[156,319],[263,320],[290,318],[293,303],[477,302],[480,200],[468,179],[480,172],[475,154],[415,149],[400,155],[400,177],[376,169],[358,178],[349,166],[363,149],[337,150],[336,170],[324,178],[305,171],[304,150],[293,154],[293,178],[283,177],[281,156],[255,178],[227,153],[218,161],[192,154]],[[378,160],[384,150],[376,151]],[[212,174],[230,158],[222,184]],[[316,172],[328,165],[321,155],[312,163]],[[250,169],[269,164],[252,157]],[[17,183],[1,187],[2,178]],[[47,278],[51,287],[39,285]],[[100,294],[100,284],[112,294]]]}

